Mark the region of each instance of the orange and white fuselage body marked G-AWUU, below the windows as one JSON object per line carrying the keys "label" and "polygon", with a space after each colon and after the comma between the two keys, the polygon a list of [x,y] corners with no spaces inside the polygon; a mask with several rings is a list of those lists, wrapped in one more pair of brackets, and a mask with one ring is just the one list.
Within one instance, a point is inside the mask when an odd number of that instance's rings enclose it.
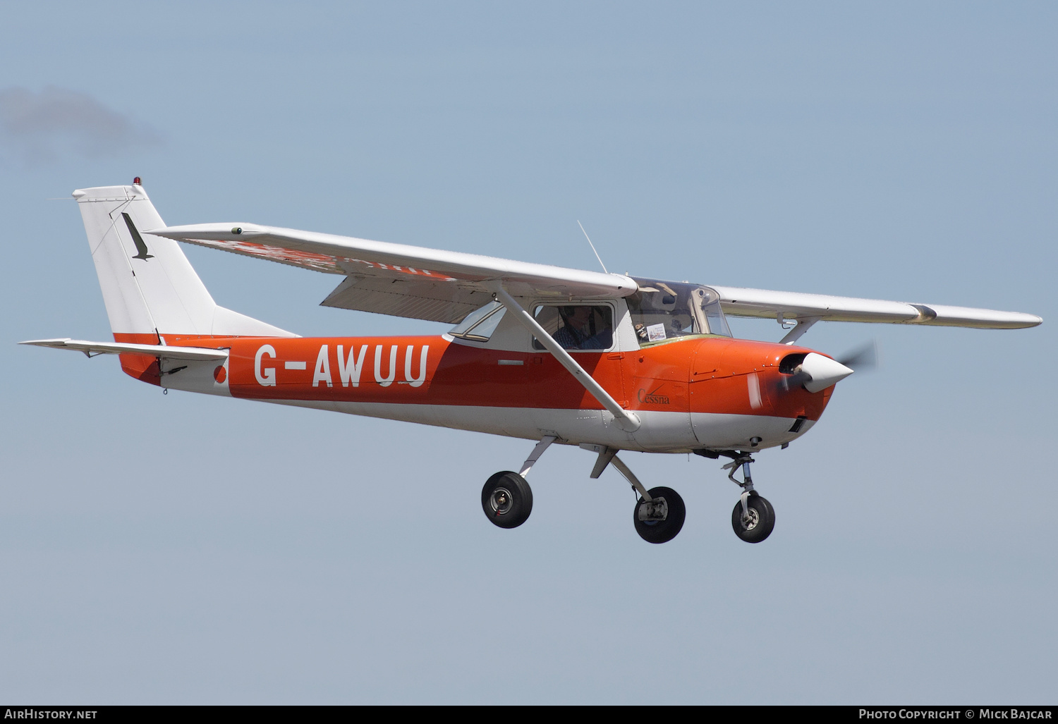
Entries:
{"label": "orange and white fuselage body marked G-AWUU, below the windows", "polygon": [[[551,354],[487,349],[449,335],[242,337],[115,334],[120,342],[227,350],[216,361],[121,355],[143,382],[515,438],[656,452],[787,443],[833,392],[787,386],[788,345],[690,336],[638,351],[577,352],[577,361],[642,422],[628,432]],[[165,368],[168,369],[165,369]]]}

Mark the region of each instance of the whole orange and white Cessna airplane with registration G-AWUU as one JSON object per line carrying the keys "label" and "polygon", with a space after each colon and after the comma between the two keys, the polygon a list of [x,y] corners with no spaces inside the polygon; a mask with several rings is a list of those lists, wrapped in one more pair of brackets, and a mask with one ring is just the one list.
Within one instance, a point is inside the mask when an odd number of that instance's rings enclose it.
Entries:
{"label": "whole orange and white Cessna airplane with registration G-AWUU", "polygon": [[[813,428],[855,360],[798,346],[820,321],[978,329],[1042,323],[1032,314],[709,286],[526,263],[251,223],[166,226],[138,177],[77,189],[113,341],[22,345],[117,354],[122,370],[168,390],[296,405],[534,442],[517,472],[481,489],[501,528],[532,512],[527,481],[552,444],[594,453],[638,495],[636,533],[672,540],[686,506],[650,489],[622,451],[695,453],[741,488],[735,535],[774,528],[753,486],[753,454]],[[177,242],[342,277],[321,302],[454,327],[425,336],[300,337],[218,305]],[[592,247],[594,248],[594,247]],[[605,270],[605,267],[603,267]],[[735,339],[727,317],[790,322],[777,342]],[[741,480],[736,475],[741,472]]]}

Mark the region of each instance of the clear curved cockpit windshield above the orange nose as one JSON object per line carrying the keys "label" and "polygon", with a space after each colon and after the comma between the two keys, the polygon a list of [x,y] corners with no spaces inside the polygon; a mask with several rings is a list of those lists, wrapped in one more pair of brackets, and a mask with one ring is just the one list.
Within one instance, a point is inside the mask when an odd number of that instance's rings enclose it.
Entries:
{"label": "clear curved cockpit windshield above the orange nose", "polygon": [[625,301],[640,345],[689,334],[731,336],[716,290],[688,282],[633,279],[639,291]]}

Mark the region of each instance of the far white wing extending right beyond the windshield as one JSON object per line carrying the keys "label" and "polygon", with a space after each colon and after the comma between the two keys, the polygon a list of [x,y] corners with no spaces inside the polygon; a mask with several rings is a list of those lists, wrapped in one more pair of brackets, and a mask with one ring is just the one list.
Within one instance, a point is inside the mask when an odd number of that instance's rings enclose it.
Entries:
{"label": "far white wing extending right beyond the windshield", "polygon": [[1036,327],[1043,321],[1035,314],[1022,312],[913,304],[882,299],[831,297],[822,294],[800,294],[798,292],[776,292],[736,286],[713,286],[713,289],[720,295],[720,307],[725,314],[732,317],[797,320],[799,327],[815,321],[861,321],[1015,330]]}

